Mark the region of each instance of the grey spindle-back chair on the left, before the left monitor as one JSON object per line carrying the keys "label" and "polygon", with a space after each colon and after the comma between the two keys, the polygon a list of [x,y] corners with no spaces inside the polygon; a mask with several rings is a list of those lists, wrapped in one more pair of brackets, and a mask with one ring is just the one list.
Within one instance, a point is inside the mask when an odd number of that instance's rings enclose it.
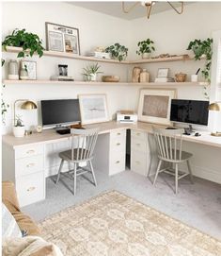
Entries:
{"label": "grey spindle-back chair on the left, before the left monitor", "polygon": [[[71,128],[71,149],[59,153],[61,158],[56,184],[59,181],[60,173],[65,161],[73,163],[73,195],[76,194],[76,179],[77,176],[90,172],[94,180],[94,185],[97,186],[97,181],[94,175],[94,170],[91,160],[93,159],[94,147],[98,138],[98,128],[77,129]],[[89,169],[79,167],[80,162],[88,162]]]}

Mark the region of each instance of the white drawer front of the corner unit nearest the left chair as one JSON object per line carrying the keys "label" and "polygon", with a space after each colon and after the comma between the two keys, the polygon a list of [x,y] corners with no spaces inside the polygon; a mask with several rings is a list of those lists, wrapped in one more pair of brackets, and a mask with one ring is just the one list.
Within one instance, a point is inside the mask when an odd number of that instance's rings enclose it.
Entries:
{"label": "white drawer front of the corner unit nearest the left chair", "polygon": [[125,171],[126,168],[126,130],[110,133],[109,175]]}

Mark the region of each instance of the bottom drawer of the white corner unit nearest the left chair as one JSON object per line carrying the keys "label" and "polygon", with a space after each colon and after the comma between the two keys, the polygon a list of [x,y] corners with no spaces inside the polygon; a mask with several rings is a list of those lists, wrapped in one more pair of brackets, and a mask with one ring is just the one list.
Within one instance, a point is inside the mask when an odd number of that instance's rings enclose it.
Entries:
{"label": "bottom drawer of the white corner unit nearest the left chair", "polygon": [[109,175],[125,171],[125,152],[114,154],[109,161]]}

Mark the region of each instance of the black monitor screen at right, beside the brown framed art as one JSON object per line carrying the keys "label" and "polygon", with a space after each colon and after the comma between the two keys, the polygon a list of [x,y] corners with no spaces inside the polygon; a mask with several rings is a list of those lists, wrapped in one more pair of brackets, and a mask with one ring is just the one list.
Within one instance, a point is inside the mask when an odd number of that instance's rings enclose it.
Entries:
{"label": "black monitor screen at right, beside the brown framed art", "polygon": [[170,121],[207,126],[209,101],[172,99]]}

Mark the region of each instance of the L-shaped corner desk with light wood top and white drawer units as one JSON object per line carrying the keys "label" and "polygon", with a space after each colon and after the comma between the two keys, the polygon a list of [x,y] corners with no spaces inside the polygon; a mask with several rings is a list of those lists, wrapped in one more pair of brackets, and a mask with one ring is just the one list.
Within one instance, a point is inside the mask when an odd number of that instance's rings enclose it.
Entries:
{"label": "L-shaped corner desk with light wood top and white drawer units", "polygon": [[[130,129],[131,170],[143,176],[154,172],[157,156],[151,126],[143,122],[121,124],[116,121],[84,126],[100,128],[93,161],[95,170],[108,170],[109,175],[125,171],[126,130]],[[213,137],[209,132],[200,133],[200,137],[183,135],[183,141],[214,146],[221,152],[221,137]],[[7,134],[2,141],[3,180],[15,182],[21,206],[44,199],[45,179],[57,173],[60,161],[58,152],[70,148],[70,134],[59,135],[55,129],[50,129],[23,138]],[[64,171],[70,168],[67,164]]]}

